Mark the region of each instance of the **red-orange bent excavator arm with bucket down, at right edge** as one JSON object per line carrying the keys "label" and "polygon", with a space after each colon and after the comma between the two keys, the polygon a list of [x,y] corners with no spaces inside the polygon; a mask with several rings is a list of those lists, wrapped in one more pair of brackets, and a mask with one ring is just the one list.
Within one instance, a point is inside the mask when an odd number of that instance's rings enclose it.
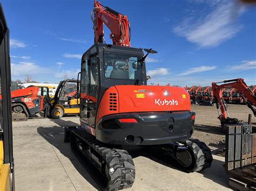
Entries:
{"label": "red-orange bent excavator arm with bucket down, at right edge", "polygon": [[[224,83],[224,84],[217,85],[217,83]],[[213,82],[212,83],[213,96],[215,97],[215,100],[217,103],[216,104],[217,109],[220,108],[220,111],[221,111],[221,114],[218,117],[220,119],[221,125],[235,124],[239,122],[237,118],[231,118],[227,112],[227,107],[223,99],[223,94],[221,94],[221,89],[223,88],[237,89],[238,93],[240,94],[240,97],[242,98],[242,101],[245,102],[248,108],[252,110],[254,116],[256,116],[256,110],[254,108],[256,107],[255,95],[253,94],[252,90],[248,88],[248,86],[244,82],[244,79],[225,80],[223,82],[216,82],[216,83]]]}

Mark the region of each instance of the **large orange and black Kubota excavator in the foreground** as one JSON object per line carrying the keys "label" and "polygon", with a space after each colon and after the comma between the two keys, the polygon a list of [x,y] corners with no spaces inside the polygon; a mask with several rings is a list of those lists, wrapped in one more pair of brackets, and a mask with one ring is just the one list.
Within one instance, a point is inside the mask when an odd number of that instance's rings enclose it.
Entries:
{"label": "large orange and black Kubota excavator in the foreground", "polygon": [[[210,167],[211,150],[190,139],[195,113],[187,91],[147,86],[145,59],[157,52],[144,49],[144,55],[142,48],[130,47],[127,16],[95,1],[91,17],[95,44],[82,56],[81,126],[65,127],[72,150],[103,174],[106,190],[132,186],[135,168],[128,151],[133,149],[163,153],[188,172]],[[113,45],[103,43],[103,24]]]}

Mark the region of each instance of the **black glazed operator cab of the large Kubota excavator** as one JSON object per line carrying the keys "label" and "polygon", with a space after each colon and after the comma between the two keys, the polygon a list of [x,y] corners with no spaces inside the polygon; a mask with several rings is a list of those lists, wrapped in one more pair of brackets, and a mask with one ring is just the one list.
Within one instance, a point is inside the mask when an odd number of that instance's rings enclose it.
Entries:
{"label": "black glazed operator cab of the large Kubota excavator", "polygon": [[101,97],[116,85],[146,85],[141,48],[96,43],[82,56],[80,120],[95,128]]}

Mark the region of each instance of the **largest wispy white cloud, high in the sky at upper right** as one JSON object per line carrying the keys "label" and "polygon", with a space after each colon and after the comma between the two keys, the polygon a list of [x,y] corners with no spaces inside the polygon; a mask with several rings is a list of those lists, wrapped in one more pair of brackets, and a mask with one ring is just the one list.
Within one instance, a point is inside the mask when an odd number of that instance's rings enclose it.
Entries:
{"label": "largest wispy white cloud, high in the sky at upper right", "polygon": [[235,17],[241,15],[244,8],[236,6],[233,1],[221,2],[216,6],[206,16],[201,14],[198,19],[184,19],[182,24],[173,28],[173,32],[205,48],[216,47],[233,38],[242,29],[241,25],[235,23]]}

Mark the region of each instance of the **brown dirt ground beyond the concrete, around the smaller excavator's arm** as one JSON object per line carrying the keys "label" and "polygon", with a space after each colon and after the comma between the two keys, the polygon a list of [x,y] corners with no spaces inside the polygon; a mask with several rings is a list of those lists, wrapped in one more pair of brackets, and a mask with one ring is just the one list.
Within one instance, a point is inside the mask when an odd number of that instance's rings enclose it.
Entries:
{"label": "brown dirt ground beyond the concrete, around the smaller excavator's arm", "polygon": [[[192,105],[192,110],[196,112],[195,131],[192,137],[205,142],[212,150],[224,147],[221,142],[225,140],[225,134],[217,118],[219,116],[217,108]],[[243,123],[248,123],[248,114],[252,114],[252,125],[256,126],[256,118],[246,105],[228,104],[227,110],[230,117],[242,120]]]}

